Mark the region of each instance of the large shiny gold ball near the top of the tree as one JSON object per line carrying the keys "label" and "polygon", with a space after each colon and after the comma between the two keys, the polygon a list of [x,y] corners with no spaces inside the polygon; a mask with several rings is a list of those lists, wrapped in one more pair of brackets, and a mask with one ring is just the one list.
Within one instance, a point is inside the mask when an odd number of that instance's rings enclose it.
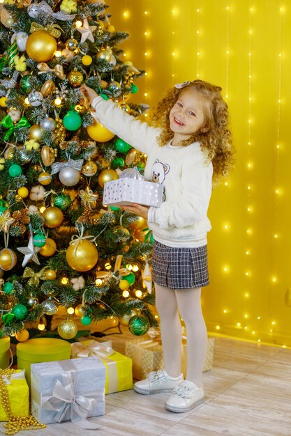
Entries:
{"label": "large shiny gold ball near the top of the tree", "polygon": [[57,41],[47,31],[38,30],[27,38],[27,55],[36,62],[47,62],[57,51]]}

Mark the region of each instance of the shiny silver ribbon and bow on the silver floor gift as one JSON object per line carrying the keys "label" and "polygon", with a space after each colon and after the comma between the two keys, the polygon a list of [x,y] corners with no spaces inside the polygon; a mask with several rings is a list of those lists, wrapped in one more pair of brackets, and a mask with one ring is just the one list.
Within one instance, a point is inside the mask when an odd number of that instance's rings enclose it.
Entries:
{"label": "shiny silver ribbon and bow on the silver floor gift", "polygon": [[96,429],[98,425],[87,420],[87,416],[98,401],[104,400],[104,389],[75,394],[77,382],[77,368],[72,361],[59,361],[62,373],[62,383],[57,380],[51,396],[42,399],[42,407],[57,412],[57,422],[72,421],[80,428]]}

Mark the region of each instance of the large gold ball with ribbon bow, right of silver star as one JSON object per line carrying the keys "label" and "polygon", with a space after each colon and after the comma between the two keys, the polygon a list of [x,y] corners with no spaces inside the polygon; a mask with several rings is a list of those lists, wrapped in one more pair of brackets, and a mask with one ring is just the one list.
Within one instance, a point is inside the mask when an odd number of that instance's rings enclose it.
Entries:
{"label": "large gold ball with ribbon bow, right of silver star", "polygon": [[[77,242],[76,242],[77,244]],[[97,263],[98,251],[93,242],[81,240],[76,244],[69,245],[66,251],[66,260],[75,271],[86,272],[91,270]]]}

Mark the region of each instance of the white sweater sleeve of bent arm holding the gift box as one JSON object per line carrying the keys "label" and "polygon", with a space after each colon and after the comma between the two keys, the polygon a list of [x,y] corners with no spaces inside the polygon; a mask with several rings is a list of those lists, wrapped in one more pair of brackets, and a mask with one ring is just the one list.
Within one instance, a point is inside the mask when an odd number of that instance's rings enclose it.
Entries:
{"label": "white sweater sleeve of bent arm holding the gift box", "polygon": [[180,195],[172,200],[167,200],[166,197],[161,208],[151,208],[149,222],[165,229],[182,228],[207,217],[213,167],[211,163],[205,166],[204,159],[200,156],[195,162],[188,159],[183,164]]}

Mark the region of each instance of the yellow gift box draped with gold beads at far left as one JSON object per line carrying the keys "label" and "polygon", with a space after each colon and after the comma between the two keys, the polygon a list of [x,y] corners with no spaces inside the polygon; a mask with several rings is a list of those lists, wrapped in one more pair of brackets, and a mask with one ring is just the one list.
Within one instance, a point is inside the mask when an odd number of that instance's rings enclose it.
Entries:
{"label": "yellow gift box draped with gold beads at far left", "polygon": [[[11,371],[12,372],[12,371]],[[11,375],[0,377],[6,382],[10,410],[13,416],[27,416],[29,414],[29,387],[25,380],[24,370],[16,370]],[[0,421],[8,421],[8,416],[4,412],[0,402]]]}

